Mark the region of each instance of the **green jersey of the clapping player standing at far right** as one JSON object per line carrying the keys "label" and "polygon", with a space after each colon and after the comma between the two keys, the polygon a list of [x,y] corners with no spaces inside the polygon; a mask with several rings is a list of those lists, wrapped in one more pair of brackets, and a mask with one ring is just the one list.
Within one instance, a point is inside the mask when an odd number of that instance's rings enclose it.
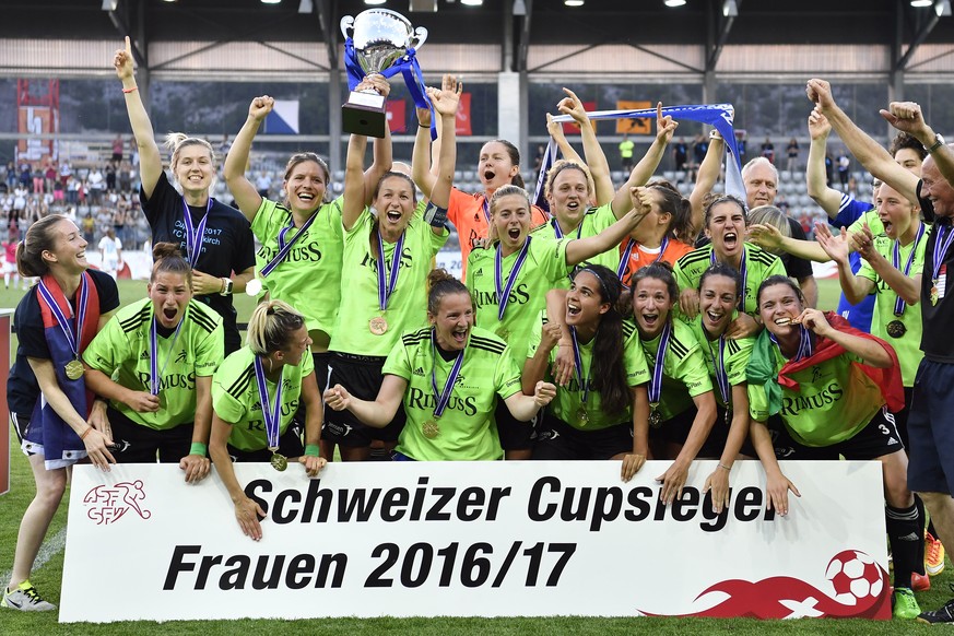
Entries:
{"label": "green jersey of the clapping player standing at far right", "polygon": [[[926,232],[921,239],[911,242],[908,245],[900,246],[898,270],[904,272],[905,264],[914,250],[915,257],[911,261],[911,270],[909,276],[916,276],[924,270],[924,248],[928,246],[930,229],[926,227]],[[887,262],[892,262],[894,258],[894,246],[896,240],[892,240],[886,235],[875,236],[874,249],[883,256]],[[867,260],[861,260],[861,269],[858,270],[858,275],[865,278],[874,283],[874,314],[871,318],[871,333],[878,335],[894,348],[897,353],[897,360],[900,363],[902,380],[906,387],[915,386],[915,375],[918,373],[918,365],[921,364],[921,358],[924,353],[921,351],[921,333],[923,326],[921,325],[921,304],[908,306],[904,304],[904,313],[900,316],[895,316],[895,302],[897,293],[887,286],[887,283],[878,275],[878,272],[869,264]],[[894,322],[891,328],[888,323]],[[904,326],[904,333],[898,335],[897,322]],[[892,335],[895,333],[895,335]]]}

